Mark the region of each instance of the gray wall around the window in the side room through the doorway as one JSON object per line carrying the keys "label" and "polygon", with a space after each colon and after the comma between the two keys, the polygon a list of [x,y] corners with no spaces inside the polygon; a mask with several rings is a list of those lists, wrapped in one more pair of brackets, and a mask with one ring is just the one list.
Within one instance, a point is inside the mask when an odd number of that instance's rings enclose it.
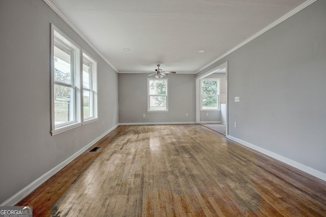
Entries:
{"label": "gray wall around the window in the side room through the doorway", "polygon": [[[213,73],[205,78],[220,78],[220,94],[226,94],[226,73]],[[200,90],[199,90],[200,91]],[[208,115],[207,115],[208,114]],[[221,111],[201,111],[201,122],[221,121]]]}

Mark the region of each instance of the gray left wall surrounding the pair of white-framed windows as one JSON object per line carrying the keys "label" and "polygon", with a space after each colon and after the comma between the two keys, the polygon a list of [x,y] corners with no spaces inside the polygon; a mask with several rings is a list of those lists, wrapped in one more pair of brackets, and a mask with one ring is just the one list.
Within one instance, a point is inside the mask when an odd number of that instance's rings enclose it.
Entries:
{"label": "gray left wall surrounding the pair of white-framed windows", "polygon": [[[2,0],[0,20],[3,203],[117,125],[118,74],[42,0]],[[49,133],[50,23],[98,61],[99,120],[56,136]]]}

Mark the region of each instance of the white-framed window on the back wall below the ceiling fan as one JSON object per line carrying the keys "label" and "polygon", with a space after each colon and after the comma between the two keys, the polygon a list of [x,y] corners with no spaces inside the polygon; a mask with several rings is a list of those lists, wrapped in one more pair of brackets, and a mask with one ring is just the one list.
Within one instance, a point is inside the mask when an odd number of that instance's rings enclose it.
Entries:
{"label": "white-framed window on the back wall below the ceiling fan", "polygon": [[168,79],[148,78],[147,111],[168,111]]}

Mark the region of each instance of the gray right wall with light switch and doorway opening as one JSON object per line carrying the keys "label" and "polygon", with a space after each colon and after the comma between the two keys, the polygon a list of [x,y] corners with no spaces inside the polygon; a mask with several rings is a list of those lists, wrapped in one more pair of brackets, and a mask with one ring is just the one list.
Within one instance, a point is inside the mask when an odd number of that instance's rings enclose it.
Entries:
{"label": "gray right wall with light switch and doorway opening", "polygon": [[229,135],[323,173],[325,12],[319,0],[196,75],[228,61]]}

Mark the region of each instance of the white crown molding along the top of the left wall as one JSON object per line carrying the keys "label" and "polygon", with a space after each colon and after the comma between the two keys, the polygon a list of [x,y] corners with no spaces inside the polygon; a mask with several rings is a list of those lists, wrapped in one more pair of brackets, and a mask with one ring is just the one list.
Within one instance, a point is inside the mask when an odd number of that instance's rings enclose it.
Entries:
{"label": "white crown molding along the top of the left wall", "polygon": [[57,6],[55,6],[52,1],[50,0],[43,0],[53,11],[55,11],[71,28],[72,30],[74,30],[75,33],[77,33],[78,36],[80,36],[80,38],[82,38],[93,50],[95,50],[95,52],[100,55],[104,61],[110,65],[112,67],[112,69],[114,69],[116,72],[118,72],[118,70],[110,63],[110,61],[108,61],[108,59],[106,59],[106,57],[95,48],[95,46],[93,46],[93,44],[72,24],[72,22],[68,19],[68,17],[66,17],[62,11],[59,10],[59,8]]}

